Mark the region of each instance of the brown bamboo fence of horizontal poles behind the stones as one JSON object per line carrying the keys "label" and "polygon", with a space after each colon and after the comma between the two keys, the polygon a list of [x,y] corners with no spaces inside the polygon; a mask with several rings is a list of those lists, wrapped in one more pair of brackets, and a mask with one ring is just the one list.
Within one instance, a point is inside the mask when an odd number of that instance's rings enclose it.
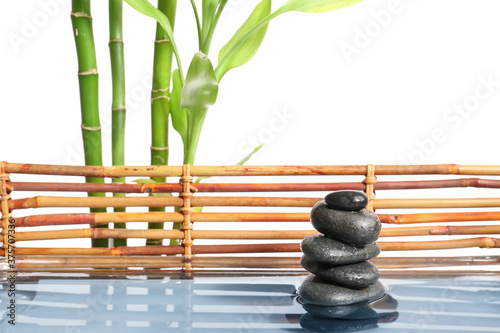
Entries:
{"label": "brown bamboo fence of horizontal poles behind the stones", "polygon": [[[480,207],[500,207],[500,197],[486,198],[437,198],[437,199],[380,199],[375,198],[375,190],[410,190],[410,189],[436,189],[436,188],[500,188],[498,179],[460,178],[444,180],[411,180],[411,181],[381,181],[377,175],[478,175],[499,176],[500,166],[459,166],[459,165],[422,165],[422,166],[244,166],[244,167],[202,167],[189,166],[149,166],[149,167],[76,167],[2,163],[2,219],[3,219],[3,247],[0,254],[8,253],[9,245],[9,218],[12,212],[29,208],[44,207],[180,207],[180,212],[149,212],[149,213],[81,213],[81,214],[35,214],[15,218],[15,241],[55,240],[73,238],[145,238],[145,239],[182,239],[182,245],[172,246],[121,246],[115,248],[30,248],[18,247],[15,254],[22,256],[19,268],[52,267],[57,263],[64,266],[73,263],[75,267],[127,267],[137,262],[127,261],[125,256],[149,256],[142,258],[144,265],[141,267],[244,267],[252,268],[298,268],[297,259],[285,258],[263,259],[257,257],[252,260],[245,257],[238,262],[231,262],[230,258],[212,258],[212,264],[202,264],[207,257],[192,256],[194,254],[230,254],[230,253],[276,253],[300,252],[297,242],[280,243],[282,240],[298,240],[305,236],[316,234],[314,230],[290,230],[294,222],[309,221],[308,209],[321,197],[262,197],[262,196],[216,196],[218,192],[301,192],[301,191],[332,191],[340,189],[355,189],[365,191],[370,203],[368,208],[375,209],[426,209],[426,208],[462,208],[474,209]],[[87,184],[87,183],[35,183],[11,182],[11,174],[46,174],[46,175],[72,175],[92,177],[180,177],[177,183],[151,183],[151,184]],[[362,182],[344,183],[229,183],[208,184],[194,183],[193,176],[305,176],[305,175],[364,175]],[[179,196],[149,196],[149,197],[64,197],[64,196],[36,196],[23,199],[12,199],[11,191],[56,191],[64,192],[111,192],[111,193],[179,193]],[[211,196],[196,196],[197,192],[213,193]],[[306,207],[304,213],[284,212],[194,212],[193,207]],[[379,212],[377,212],[379,213]],[[456,249],[469,247],[500,248],[500,239],[488,237],[500,234],[500,226],[492,225],[491,221],[500,220],[500,211],[465,211],[465,212],[423,212],[410,214],[378,214],[384,228],[381,237],[408,237],[408,236],[434,236],[434,235],[468,235],[472,238],[459,238],[451,240],[425,240],[425,241],[387,241],[379,243],[384,251],[406,250],[431,250],[431,249]],[[15,216],[14,216],[15,217]],[[444,225],[448,222],[478,222],[487,221],[486,224],[474,225]],[[133,230],[133,229],[106,229],[93,228],[110,222],[127,223],[128,227],[133,222],[180,222],[181,230]],[[279,230],[196,230],[193,222],[221,222],[221,226],[228,226],[227,222],[250,225],[252,222],[283,222]],[[430,226],[406,226],[415,223],[432,223]],[[387,227],[390,224],[402,225]],[[22,231],[23,227],[59,226],[59,225],[88,225],[90,227],[72,230],[51,231]],[[233,224],[234,225],[234,224]],[[276,225],[276,224],[275,224]],[[403,226],[404,225],[404,226]],[[276,227],[275,227],[276,228]],[[218,244],[193,245],[193,240],[259,240],[255,244]],[[262,241],[274,240],[272,244]],[[11,240],[12,243],[12,240]],[[11,244],[12,245],[12,244]],[[183,255],[182,260],[177,257],[162,258],[160,266],[155,266],[157,255]],[[67,260],[49,260],[49,266],[36,263],[35,257],[30,256],[68,256]],[[71,257],[84,256],[84,257]],[[87,256],[87,257],[85,257]],[[88,256],[120,256],[117,260],[103,261],[107,266],[101,266]],[[55,258],[55,257],[54,257]],[[205,259],[202,259],[205,258]],[[50,259],[50,258],[46,258]],[[94,258],[95,259],[95,258]],[[123,260],[122,260],[123,259]],[[172,259],[172,260],[171,260]],[[213,262],[218,261],[214,266]],[[279,261],[283,263],[280,264]],[[63,263],[64,262],[64,263]],[[92,266],[92,262],[94,266]],[[249,264],[249,263],[254,264]],[[399,262],[399,261],[398,261]],[[149,265],[150,264],[150,265]],[[38,266],[37,266],[38,265]],[[41,266],[40,266],[41,265]],[[83,266],[82,266],[83,265]],[[163,266],[161,266],[163,265]],[[212,265],[212,266],[210,266]],[[61,267],[62,267],[61,266]],[[383,268],[383,265],[380,263]],[[69,267],[69,266],[66,266]],[[407,267],[400,262],[399,267]]]}

